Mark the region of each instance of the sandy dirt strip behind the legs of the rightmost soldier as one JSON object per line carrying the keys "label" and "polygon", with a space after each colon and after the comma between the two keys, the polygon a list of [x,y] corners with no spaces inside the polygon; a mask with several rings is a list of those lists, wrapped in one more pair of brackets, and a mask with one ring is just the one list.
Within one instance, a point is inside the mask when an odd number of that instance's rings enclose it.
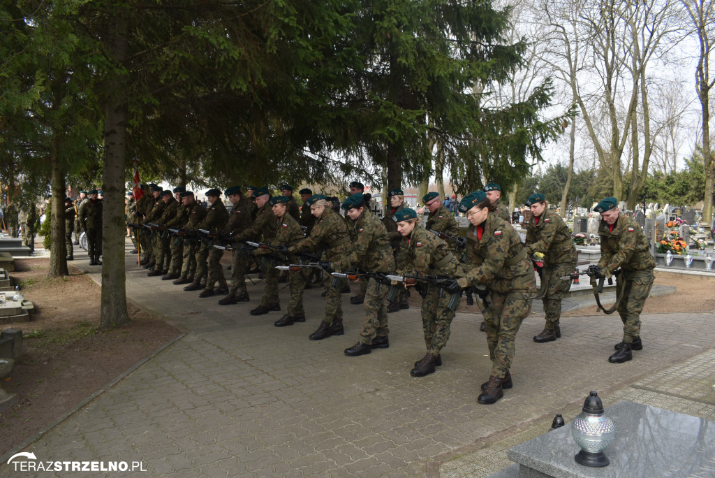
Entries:
{"label": "sandy dirt strip behind the legs of the rightmost soldier", "polygon": [[[656,270],[656,281],[654,284],[663,286],[675,286],[676,293],[668,296],[651,297],[646,301],[643,313],[657,312],[701,312],[715,310],[715,278],[708,278],[702,275],[685,275]],[[583,279],[582,279],[583,280]],[[603,303],[603,306],[611,306],[611,303]],[[576,311],[562,313],[564,317],[583,316],[585,314],[599,313],[598,308],[583,308]]]}

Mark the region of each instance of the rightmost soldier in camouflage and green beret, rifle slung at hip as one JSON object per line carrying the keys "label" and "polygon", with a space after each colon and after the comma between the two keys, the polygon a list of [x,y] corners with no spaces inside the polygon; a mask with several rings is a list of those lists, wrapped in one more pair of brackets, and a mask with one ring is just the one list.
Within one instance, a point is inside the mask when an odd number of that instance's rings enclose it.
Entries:
{"label": "rightmost soldier in camouflage and green beret, rifle slung at hip", "polygon": [[633,350],[643,350],[641,342],[641,312],[646,298],[651,293],[655,280],[653,268],[656,261],[641,226],[633,218],[621,214],[618,200],[606,197],[596,208],[601,213],[601,268],[597,278],[610,278],[616,269],[621,273],[616,278],[616,288],[623,286],[623,296],[618,303],[618,315],[623,322],[623,341],[616,343],[616,353],[608,357],[611,364],[622,364],[633,358]]}

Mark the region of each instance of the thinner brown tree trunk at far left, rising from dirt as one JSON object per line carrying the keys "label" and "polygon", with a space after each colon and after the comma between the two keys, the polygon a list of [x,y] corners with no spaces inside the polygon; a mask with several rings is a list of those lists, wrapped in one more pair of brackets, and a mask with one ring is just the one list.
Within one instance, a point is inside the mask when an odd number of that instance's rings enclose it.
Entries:
{"label": "thinner brown tree trunk at far left, rising from dirt", "polygon": [[69,273],[67,271],[66,238],[64,237],[64,173],[59,166],[56,145],[52,147],[50,163],[52,165],[52,222],[50,224],[49,270],[47,271],[47,277],[54,278],[62,277]]}

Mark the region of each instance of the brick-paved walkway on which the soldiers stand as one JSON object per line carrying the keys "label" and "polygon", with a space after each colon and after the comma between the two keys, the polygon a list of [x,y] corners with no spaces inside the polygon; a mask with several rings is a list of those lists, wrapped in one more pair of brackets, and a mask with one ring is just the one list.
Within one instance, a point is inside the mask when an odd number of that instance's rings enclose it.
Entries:
{"label": "brick-paved walkway on which the soldiers stand", "polygon": [[[99,281],[99,268],[75,257]],[[275,328],[282,313],[248,314],[262,284],[249,284],[250,303],[219,306],[147,278],[136,257],[127,255],[127,296],[189,333],[24,450],[38,459],[140,461],[152,477],[479,477],[507,467],[504,450],[548,429],[554,414],[575,416],[590,390],[606,405],[681,397],[686,413],[699,406],[714,418],[715,313],[644,316],[644,350],[613,365],[617,315],[566,318],[561,339],[536,344],[535,312],[517,337],[514,388],[484,406],[476,397],[490,361],[478,312],[460,309],[443,366],[415,379],[418,308],[390,314],[390,348],[351,358],[342,350],[357,341],[363,311],[347,294],[345,336],[313,342],[320,289],[305,292],[307,322]],[[284,308],[287,297],[282,284]],[[3,466],[0,476],[18,474]]]}

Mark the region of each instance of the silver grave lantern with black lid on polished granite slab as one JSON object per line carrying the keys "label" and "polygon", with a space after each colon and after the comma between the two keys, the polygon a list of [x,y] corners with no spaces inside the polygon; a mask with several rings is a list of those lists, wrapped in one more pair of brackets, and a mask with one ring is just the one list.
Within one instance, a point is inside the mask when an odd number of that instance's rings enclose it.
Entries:
{"label": "silver grave lantern with black lid on polished granite slab", "polygon": [[571,436],[581,448],[573,459],[586,467],[606,467],[608,457],[603,450],[613,442],[616,431],[613,421],[603,415],[603,402],[598,392],[591,391],[583,401],[583,411],[575,419],[571,428]]}

